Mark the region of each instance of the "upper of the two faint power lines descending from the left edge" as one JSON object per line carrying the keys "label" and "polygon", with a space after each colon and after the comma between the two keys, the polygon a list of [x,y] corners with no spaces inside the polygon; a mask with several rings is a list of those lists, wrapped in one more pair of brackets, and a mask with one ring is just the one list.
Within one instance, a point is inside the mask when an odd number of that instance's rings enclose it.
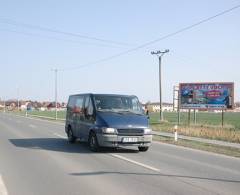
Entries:
{"label": "upper of the two faint power lines descending from the left edge", "polygon": [[47,28],[47,27],[38,26],[38,25],[26,24],[26,23],[10,20],[7,18],[0,18],[0,23],[9,24],[13,26],[21,26],[24,28],[37,29],[40,31],[47,31],[51,33],[63,34],[67,36],[78,37],[78,38],[88,39],[88,40],[98,41],[98,42],[104,42],[104,43],[113,44],[113,45],[130,46],[130,44],[119,42],[119,41],[107,40],[107,39],[102,39],[98,37],[92,37],[92,36],[87,36],[87,35],[82,35],[78,33],[67,32],[67,31],[61,31],[61,30]]}

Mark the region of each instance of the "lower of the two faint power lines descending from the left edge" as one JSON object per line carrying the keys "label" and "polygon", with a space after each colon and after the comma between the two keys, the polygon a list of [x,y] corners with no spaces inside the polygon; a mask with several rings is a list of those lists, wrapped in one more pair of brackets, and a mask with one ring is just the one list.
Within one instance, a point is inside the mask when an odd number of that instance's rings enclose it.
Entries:
{"label": "lower of the two faint power lines descending from the left edge", "polygon": [[0,31],[16,33],[16,34],[21,34],[21,35],[25,35],[25,36],[41,37],[41,38],[52,39],[52,40],[57,40],[57,41],[70,42],[70,43],[75,43],[75,44],[86,44],[86,45],[95,45],[95,46],[100,46],[100,47],[120,48],[120,46],[107,45],[107,44],[103,44],[103,43],[90,43],[90,42],[75,41],[75,40],[70,40],[70,39],[62,39],[62,38],[56,38],[53,36],[47,36],[47,35],[41,35],[41,34],[29,33],[29,32],[21,32],[21,31],[16,31],[16,30],[9,30],[9,29],[0,29]]}

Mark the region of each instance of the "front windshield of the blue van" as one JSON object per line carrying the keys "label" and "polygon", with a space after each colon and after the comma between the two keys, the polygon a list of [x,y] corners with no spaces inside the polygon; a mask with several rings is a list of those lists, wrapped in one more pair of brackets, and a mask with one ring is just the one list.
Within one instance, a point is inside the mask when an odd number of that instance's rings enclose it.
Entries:
{"label": "front windshield of the blue van", "polygon": [[95,95],[94,99],[98,111],[143,114],[143,109],[135,96]]}

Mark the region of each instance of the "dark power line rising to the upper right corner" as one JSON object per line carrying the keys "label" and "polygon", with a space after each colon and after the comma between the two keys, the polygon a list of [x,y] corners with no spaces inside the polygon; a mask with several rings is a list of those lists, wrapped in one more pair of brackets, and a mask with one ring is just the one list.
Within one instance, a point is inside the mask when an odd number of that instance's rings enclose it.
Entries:
{"label": "dark power line rising to the upper right corner", "polygon": [[106,58],[102,58],[102,59],[97,60],[97,61],[94,61],[94,62],[89,62],[89,63],[84,64],[84,65],[75,66],[75,67],[71,67],[71,68],[64,68],[64,69],[61,69],[61,71],[76,70],[76,69],[79,69],[79,68],[83,68],[83,67],[86,67],[86,66],[99,64],[99,63],[101,63],[101,62],[109,61],[109,60],[111,60],[111,59],[114,59],[114,58],[117,58],[117,57],[126,55],[126,54],[128,54],[128,53],[131,53],[131,52],[134,52],[134,51],[136,51],[136,50],[142,49],[142,48],[144,48],[144,47],[147,47],[147,46],[149,46],[149,45],[152,45],[152,44],[157,43],[157,42],[159,42],[159,41],[162,41],[162,40],[164,40],[164,39],[173,37],[173,36],[175,36],[175,35],[177,35],[177,34],[180,34],[180,33],[184,32],[184,31],[190,30],[190,29],[192,29],[192,28],[194,28],[194,27],[196,27],[196,26],[199,26],[199,25],[201,25],[201,24],[203,24],[203,23],[206,23],[206,22],[208,22],[208,21],[210,21],[210,20],[213,20],[213,19],[215,19],[215,18],[217,18],[217,17],[219,17],[219,16],[225,15],[225,14],[227,14],[227,13],[233,11],[233,10],[236,10],[236,9],[238,9],[238,8],[240,8],[240,4],[234,6],[234,7],[230,8],[230,9],[224,10],[224,11],[218,13],[218,14],[215,14],[215,15],[213,15],[213,16],[210,16],[210,17],[208,17],[208,18],[205,18],[205,19],[203,19],[203,20],[200,20],[200,21],[198,21],[198,22],[196,22],[196,23],[194,23],[194,24],[191,24],[191,25],[189,25],[189,26],[183,27],[183,28],[181,28],[181,29],[179,29],[179,30],[177,30],[177,31],[175,31],[175,32],[169,33],[169,34],[164,35],[164,36],[162,36],[162,37],[160,37],[160,38],[157,38],[157,39],[154,39],[154,40],[152,40],[152,41],[146,42],[146,43],[144,43],[144,44],[142,44],[142,45],[139,45],[139,46],[137,46],[137,47],[134,47],[134,48],[132,48],[132,49],[128,49],[128,50],[123,51],[123,52],[120,52],[120,53],[118,53],[118,54],[115,54],[115,55],[112,55],[112,56],[109,56],[109,57],[106,57]]}

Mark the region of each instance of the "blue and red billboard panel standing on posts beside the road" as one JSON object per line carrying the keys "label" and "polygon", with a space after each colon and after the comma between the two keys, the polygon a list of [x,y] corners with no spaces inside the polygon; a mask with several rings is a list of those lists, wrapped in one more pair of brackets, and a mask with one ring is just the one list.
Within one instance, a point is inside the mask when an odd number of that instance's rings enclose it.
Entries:
{"label": "blue and red billboard panel standing on posts beside the road", "polygon": [[234,83],[180,83],[182,109],[232,109]]}

